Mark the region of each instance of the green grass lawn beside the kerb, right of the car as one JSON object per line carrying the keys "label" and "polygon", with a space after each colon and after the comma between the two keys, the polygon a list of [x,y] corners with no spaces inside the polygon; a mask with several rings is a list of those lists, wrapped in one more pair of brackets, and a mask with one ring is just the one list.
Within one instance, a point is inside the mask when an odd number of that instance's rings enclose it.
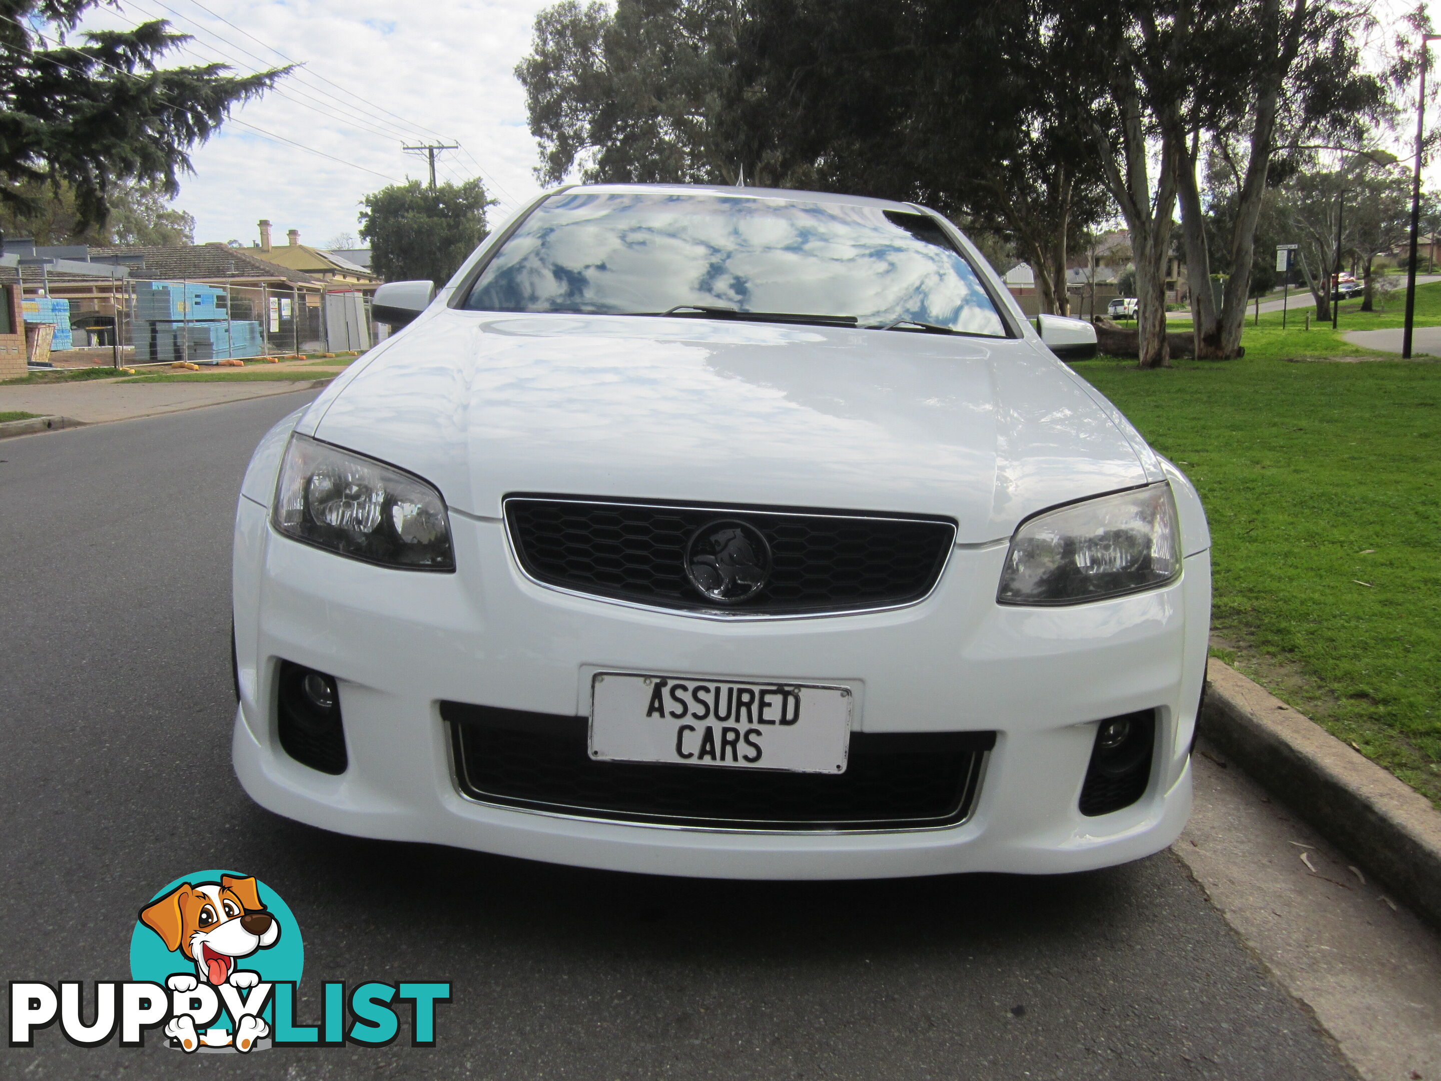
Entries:
{"label": "green grass lawn beside the kerb, right of the car", "polygon": [[[1352,307],[1343,330],[1393,314]],[[1441,323],[1441,283],[1418,313]],[[1244,344],[1074,368],[1200,490],[1219,653],[1441,806],[1441,363],[1295,363],[1395,355],[1280,314]]]}

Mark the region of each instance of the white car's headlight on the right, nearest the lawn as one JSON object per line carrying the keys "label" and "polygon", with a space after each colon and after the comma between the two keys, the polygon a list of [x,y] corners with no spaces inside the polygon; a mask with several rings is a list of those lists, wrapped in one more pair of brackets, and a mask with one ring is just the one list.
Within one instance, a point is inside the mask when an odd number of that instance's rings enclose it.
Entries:
{"label": "white car's headlight on the right, nearest the lawn", "polygon": [[1170,484],[1046,510],[1010,539],[1000,604],[1081,604],[1153,590],[1180,574]]}

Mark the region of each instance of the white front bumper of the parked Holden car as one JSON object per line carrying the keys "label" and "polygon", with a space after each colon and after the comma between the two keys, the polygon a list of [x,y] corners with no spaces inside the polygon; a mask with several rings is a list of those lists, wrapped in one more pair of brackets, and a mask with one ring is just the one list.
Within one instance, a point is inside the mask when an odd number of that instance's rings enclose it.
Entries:
{"label": "white front bumper of the parked Holden car", "polygon": [[[1006,546],[958,548],[935,592],[898,611],[744,624],[559,594],[526,579],[494,519],[452,515],[457,574],[388,571],[290,542],[241,499],[233,757],[261,806],[323,829],[579,866],[706,878],[1053,873],[1170,845],[1190,810],[1205,673],[1205,552],[1148,594],[1071,608],[996,605]],[[349,768],[291,760],[275,734],[281,660],[340,682]],[[994,731],[955,826],[745,832],[628,824],[465,798],[442,700],[582,715],[597,670],[844,683],[867,732]],[[1095,722],[1157,709],[1147,794],[1076,807]]]}

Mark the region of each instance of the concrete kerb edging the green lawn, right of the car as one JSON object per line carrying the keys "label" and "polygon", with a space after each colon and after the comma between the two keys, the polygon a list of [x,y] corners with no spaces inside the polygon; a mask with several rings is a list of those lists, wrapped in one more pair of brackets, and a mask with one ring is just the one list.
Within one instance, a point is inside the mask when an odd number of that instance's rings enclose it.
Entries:
{"label": "concrete kerb edging the green lawn, right of the car", "polygon": [[1421,793],[1219,660],[1200,734],[1422,918],[1441,927],[1441,813]]}

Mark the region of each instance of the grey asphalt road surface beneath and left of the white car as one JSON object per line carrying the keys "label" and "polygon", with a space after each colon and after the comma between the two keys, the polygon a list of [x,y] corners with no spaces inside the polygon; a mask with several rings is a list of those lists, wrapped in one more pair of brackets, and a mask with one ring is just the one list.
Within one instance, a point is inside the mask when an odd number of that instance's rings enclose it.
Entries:
{"label": "grey asphalt road surface beneath and left of the white car", "polygon": [[231,771],[231,516],[308,395],[0,442],[0,971],[130,979],[180,875],[275,888],[321,980],[448,979],[434,1048],[189,1061],[56,1028],[6,1078],[1346,1078],[1170,853],[1066,878],[728,884],[356,840]]}

